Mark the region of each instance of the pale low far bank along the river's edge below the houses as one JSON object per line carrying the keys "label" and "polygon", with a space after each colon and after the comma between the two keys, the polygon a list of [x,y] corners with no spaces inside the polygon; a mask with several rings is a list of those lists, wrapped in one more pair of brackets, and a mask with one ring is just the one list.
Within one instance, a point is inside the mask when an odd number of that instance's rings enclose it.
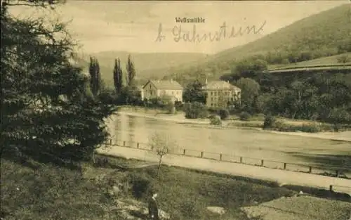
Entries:
{"label": "pale low far bank along the river's edge below the houses", "polygon": [[[130,115],[133,117],[144,117],[149,119],[161,119],[168,122],[175,122],[179,124],[193,124],[194,126],[208,126],[216,127],[210,124],[209,119],[186,119],[184,112],[176,112],[176,114],[168,114],[164,110],[150,110],[140,107],[121,107],[119,108],[118,114],[121,115]],[[298,121],[289,121],[285,120],[284,123],[288,124],[301,124],[303,122]],[[335,141],[351,141],[351,131],[340,131],[340,132],[289,132],[289,131],[274,131],[274,130],[263,130],[263,122],[260,121],[250,121],[243,122],[239,119],[236,120],[223,120],[221,128],[223,129],[232,129],[232,128],[243,128],[243,129],[254,129],[260,132],[270,132],[274,134],[283,134],[283,135],[292,135],[292,136],[303,136],[310,138],[322,138]],[[218,127],[218,126],[217,126]]]}

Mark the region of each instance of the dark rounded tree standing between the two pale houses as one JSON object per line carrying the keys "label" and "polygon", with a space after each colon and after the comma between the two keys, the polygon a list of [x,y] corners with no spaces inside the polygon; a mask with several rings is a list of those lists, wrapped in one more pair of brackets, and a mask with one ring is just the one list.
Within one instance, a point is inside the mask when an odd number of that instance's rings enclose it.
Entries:
{"label": "dark rounded tree standing between the two pale houses", "polygon": [[190,103],[198,102],[206,104],[206,93],[202,89],[202,86],[204,84],[201,84],[198,79],[187,84],[183,93],[183,100]]}

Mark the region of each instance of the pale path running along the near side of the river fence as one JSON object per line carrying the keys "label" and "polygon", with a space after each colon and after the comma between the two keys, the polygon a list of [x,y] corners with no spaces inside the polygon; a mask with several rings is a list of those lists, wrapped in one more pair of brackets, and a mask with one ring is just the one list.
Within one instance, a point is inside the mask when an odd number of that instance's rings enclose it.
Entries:
{"label": "pale path running along the near side of the river fence", "polygon": [[[98,153],[157,162],[157,157],[147,150],[114,146],[108,149],[99,149]],[[309,186],[326,190],[329,190],[329,186],[333,185],[334,191],[351,195],[351,180],[349,179],[256,167],[247,164],[220,162],[196,157],[183,157],[178,155],[166,155],[163,161],[164,164],[168,165],[190,169],[201,169],[222,174],[232,174],[236,176],[246,176],[265,181],[275,181],[283,185]]]}

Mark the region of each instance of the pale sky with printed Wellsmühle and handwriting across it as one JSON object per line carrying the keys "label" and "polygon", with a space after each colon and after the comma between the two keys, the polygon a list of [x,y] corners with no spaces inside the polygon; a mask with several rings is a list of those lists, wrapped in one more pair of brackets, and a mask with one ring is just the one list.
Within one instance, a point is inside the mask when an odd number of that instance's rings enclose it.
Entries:
{"label": "pale sky with printed Wellsm\u00fchle and handwriting across it", "polygon": [[[128,51],[131,53],[218,53],[247,44],[296,20],[329,10],[349,1],[67,1],[50,16],[69,22],[68,30],[80,45],[79,52]],[[41,11],[42,12],[42,11]],[[14,15],[34,15],[28,8],[15,8]],[[38,15],[36,12],[35,15]],[[46,15],[48,13],[46,12]],[[177,23],[179,18],[203,18],[199,23]],[[220,32],[211,41],[185,41],[183,34]],[[161,41],[159,25],[162,31]],[[229,37],[242,28],[255,26],[256,34]],[[177,37],[180,37],[177,41]]]}

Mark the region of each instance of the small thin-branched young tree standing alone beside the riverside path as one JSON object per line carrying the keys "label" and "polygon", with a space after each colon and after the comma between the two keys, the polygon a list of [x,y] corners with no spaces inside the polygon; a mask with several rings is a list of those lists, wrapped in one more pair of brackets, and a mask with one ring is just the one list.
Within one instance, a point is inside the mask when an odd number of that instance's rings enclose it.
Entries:
{"label": "small thin-branched young tree standing alone beside the riverside path", "polygon": [[150,137],[149,142],[151,145],[152,153],[156,154],[159,158],[159,164],[157,169],[157,176],[159,176],[162,165],[162,159],[165,155],[172,153],[172,151],[176,149],[177,144],[175,141],[173,141],[172,138],[170,138],[166,134],[159,133],[153,134]]}

